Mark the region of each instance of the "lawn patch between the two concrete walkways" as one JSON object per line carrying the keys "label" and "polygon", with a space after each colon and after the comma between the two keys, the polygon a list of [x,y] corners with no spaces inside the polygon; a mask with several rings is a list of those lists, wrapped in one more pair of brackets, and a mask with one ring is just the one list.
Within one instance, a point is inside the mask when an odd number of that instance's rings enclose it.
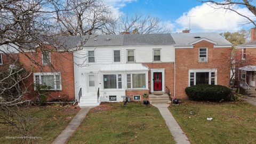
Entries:
{"label": "lawn patch between the two concrete walkways", "polygon": [[107,103],[90,112],[68,143],[175,143],[158,109],[141,103]]}

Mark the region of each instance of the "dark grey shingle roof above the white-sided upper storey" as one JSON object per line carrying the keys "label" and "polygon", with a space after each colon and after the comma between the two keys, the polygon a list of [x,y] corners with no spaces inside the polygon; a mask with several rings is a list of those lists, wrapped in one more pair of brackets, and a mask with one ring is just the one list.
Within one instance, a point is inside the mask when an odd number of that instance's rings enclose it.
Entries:
{"label": "dark grey shingle roof above the white-sided upper storey", "polygon": [[90,36],[83,46],[173,45],[170,34],[128,34]]}

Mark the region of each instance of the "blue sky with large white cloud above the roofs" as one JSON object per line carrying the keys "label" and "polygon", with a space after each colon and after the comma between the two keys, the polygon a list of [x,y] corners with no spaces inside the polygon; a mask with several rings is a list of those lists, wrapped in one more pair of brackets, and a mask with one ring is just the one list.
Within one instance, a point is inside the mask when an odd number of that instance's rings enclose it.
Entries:
{"label": "blue sky with large white cloud above the roofs", "polygon": [[[115,15],[134,13],[150,14],[158,17],[162,25],[171,33],[180,33],[189,28],[191,33],[238,31],[250,29],[252,25],[244,25],[246,20],[235,12],[214,9],[212,5],[196,0],[103,0],[110,6]],[[235,9],[252,17],[245,7],[235,6]]]}

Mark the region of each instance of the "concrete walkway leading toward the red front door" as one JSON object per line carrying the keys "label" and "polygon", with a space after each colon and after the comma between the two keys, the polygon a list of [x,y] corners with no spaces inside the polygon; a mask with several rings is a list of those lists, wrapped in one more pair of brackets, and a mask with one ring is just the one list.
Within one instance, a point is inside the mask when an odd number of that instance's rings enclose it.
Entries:
{"label": "concrete walkway leading toward the red front door", "polygon": [[157,107],[160,111],[161,115],[163,116],[167,127],[169,128],[170,132],[172,133],[174,140],[176,143],[187,144],[190,143],[186,134],[182,131],[179,124],[176,122],[174,117],[172,116],[171,112],[168,109],[169,105],[166,104],[153,104],[153,106]]}

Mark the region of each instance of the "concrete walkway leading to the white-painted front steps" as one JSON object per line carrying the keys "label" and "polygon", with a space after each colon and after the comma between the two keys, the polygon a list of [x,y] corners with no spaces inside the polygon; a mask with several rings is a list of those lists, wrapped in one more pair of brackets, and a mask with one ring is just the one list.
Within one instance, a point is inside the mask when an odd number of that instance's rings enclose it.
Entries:
{"label": "concrete walkway leading to the white-painted front steps", "polygon": [[76,114],[68,126],[63,130],[59,136],[52,142],[53,144],[63,144],[68,141],[71,135],[76,131],[77,127],[83,122],[85,116],[92,107],[82,107]]}

